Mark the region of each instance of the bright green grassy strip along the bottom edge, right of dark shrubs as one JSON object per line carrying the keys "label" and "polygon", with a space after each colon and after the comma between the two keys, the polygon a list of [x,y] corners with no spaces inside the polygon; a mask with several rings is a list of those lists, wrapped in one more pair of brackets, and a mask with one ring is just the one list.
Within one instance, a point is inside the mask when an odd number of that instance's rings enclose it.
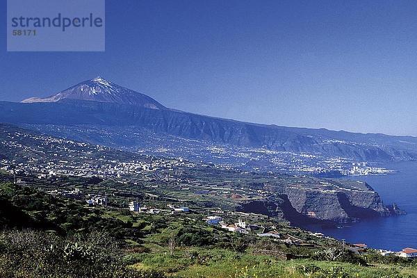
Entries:
{"label": "bright green grassy strip along the bottom edge, right of dark shrubs", "polygon": [[361,266],[312,259],[280,261],[271,256],[253,255],[250,251],[240,254],[219,249],[181,250],[173,256],[167,252],[142,254],[136,259],[139,262],[133,268],[158,270],[172,277],[417,277],[416,265],[375,263]]}

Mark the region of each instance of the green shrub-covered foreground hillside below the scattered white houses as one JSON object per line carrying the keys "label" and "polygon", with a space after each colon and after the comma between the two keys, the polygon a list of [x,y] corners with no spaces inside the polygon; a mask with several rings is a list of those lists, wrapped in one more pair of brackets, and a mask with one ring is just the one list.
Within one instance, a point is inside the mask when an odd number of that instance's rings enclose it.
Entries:
{"label": "green shrub-covered foreground hillside below the scattered white houses", "polygon": [[183,215],[131,213],[0,183],[0,277],[417,277],[416,261],[341,250],[337,240],[273,220],[262,221],[309,244],[231,233],[203,217],[197,206]]}

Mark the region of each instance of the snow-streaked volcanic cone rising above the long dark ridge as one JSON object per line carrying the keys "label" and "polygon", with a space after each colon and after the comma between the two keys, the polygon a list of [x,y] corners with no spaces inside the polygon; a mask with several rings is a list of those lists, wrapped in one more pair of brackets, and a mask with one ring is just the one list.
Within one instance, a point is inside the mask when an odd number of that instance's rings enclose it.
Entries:
{"label": "snow-streaked volcanic cone rising above the long dark ridge", "polygon": [[58,92],[51,97],[31,97],[30,99],[24,99],[22,103],[58,102],[62,99],[99,101],[115,104],[129,104],[152,109],[165,109],[162,104],[158,103],[155,99],[152,99],[152,97],[124,88],[107,81],[100,76],[97,76],[95,79],[83,81],[66,90]]}

